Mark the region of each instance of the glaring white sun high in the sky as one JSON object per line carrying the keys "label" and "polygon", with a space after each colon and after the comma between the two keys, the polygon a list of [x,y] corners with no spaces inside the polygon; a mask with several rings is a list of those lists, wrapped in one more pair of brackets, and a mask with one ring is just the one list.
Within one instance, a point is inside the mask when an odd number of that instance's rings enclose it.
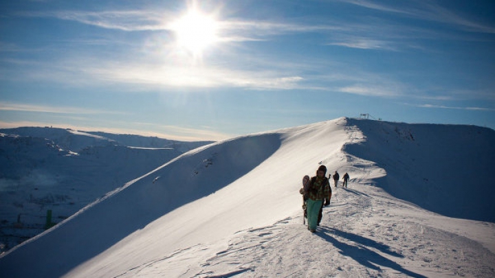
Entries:
{"label": "glaring white sun high in the sky", "polygon": [[193,9],[175,21],[172,30],[177,35],[179,47],[184,47],[194,56],[200,56],[203,49],[217,41],[217,25],[212,16]]}

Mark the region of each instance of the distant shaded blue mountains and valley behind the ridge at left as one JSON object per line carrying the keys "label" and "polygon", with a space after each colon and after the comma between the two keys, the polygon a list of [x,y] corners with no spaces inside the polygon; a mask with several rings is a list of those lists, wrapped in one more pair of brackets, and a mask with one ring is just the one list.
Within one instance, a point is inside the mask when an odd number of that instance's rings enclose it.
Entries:
{"label": "distant shaded blue mountains and valley behind the ridge at left", "polygon": [[[61,222],[127,181],[211,143],[61,128],[0,132],[0,251],[41,233],[47,224]],[[47,223],[49,210],[52,220]]]}

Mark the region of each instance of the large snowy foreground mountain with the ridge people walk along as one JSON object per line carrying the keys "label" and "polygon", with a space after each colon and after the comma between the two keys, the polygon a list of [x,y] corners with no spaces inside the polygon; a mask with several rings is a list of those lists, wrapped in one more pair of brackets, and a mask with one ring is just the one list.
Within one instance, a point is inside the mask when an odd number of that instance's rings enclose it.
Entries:
{"label": "large snowy foreground mountain with the ridge people walk along", "polygon": [[[340,118],[213,143],[13,248],[0,273],[494,277],[494,139],[475,126]],[[351,180],[332,187],[313,234],[298,189],[321,164]]]}

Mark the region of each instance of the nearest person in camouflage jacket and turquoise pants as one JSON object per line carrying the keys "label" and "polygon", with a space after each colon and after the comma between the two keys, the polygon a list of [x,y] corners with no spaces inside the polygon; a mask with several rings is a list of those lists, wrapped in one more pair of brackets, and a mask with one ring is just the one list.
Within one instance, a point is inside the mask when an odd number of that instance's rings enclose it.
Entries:
{"label": "nearest person in camouflage jacket and turquoise pants", "polygon": [[328,178],[325,176],[327,174],[327,167],[321,165],[316,171],[316,176],[309,180],[309,185],[307,187],[307,220],[308,220],[308,230],[311,233],[316,231],[316,226],[319,223],[318,218],[321,220],[321,216],[318,217],[322,211],[323,205],[330,205],[331,198],[331,188]]}

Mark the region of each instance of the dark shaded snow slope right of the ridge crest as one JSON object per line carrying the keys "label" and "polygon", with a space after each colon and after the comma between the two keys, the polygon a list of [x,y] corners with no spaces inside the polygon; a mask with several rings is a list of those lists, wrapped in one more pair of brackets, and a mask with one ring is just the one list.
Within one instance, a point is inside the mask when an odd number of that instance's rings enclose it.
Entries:
{"label": "dark shaded snow slope right of the ridge crest", "polygon": [[366,135],[344,151],[386,170],[388,193],[445,216],[495,222],[495,130],[349,119]]}

